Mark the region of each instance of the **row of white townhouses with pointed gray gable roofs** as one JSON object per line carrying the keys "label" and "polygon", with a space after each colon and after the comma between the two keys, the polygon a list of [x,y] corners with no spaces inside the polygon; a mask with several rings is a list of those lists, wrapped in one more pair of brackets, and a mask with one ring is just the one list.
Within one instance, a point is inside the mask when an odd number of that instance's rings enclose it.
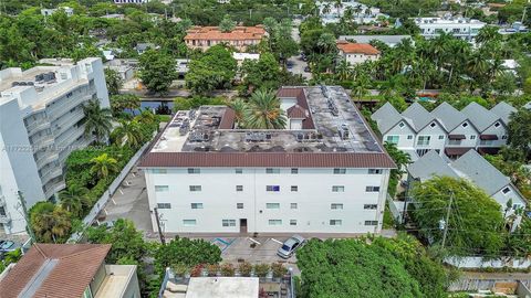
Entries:
{"label": "row of white townhouses with pointed gray gable roofs", "polygon": [[414,103],[402,114],[386,103],[371,118],[376,121],[384,141],[396,143],[412,160],[429,150],[457,158],[470,149],[496,153],[507,145],[507,125],[517,109],[502,102],[490,110],[470,103],[457,110],[441,103],[433,111]]}

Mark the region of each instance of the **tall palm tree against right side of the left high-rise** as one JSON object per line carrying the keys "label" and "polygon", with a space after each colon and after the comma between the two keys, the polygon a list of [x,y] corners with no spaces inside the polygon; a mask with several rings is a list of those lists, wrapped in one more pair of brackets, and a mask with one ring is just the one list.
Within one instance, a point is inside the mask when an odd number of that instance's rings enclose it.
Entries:
{"label": "tall palm tree against right side of the left high-rise", "polygon": [[85,138],[103,142],[113,128],[113,115],[110,108],[102,108],[98,99],[91,99],[83,106],[85,113]]}

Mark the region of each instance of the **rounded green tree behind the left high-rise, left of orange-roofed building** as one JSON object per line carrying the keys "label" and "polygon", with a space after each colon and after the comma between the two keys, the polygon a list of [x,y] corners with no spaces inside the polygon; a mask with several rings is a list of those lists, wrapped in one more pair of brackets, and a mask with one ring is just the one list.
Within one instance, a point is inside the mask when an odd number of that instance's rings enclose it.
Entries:
{"label": "rounded green tree behind the left high-rise, left of orange-roofed building", "polygon": [[142,83],[149,92],[166,94],[177,78],[175,65],[173,56],[156,50],[146,51],[138,63]]}

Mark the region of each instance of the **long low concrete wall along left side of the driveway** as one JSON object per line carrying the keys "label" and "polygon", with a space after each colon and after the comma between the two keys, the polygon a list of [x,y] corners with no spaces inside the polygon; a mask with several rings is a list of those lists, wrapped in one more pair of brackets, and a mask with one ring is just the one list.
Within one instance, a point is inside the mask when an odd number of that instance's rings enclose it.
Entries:
{"label": "long low concrete wall along left side of the driveway", "polygon": [[[105,207],[105,205],[108,203],[108,200],[111,196],[114,194],[114,192],[119,188],[124,179],[127,177],[129,171],[135,167],[136,162],[140,159],[140,157],[144,155],[146,149],[149,147],[150,141],[144,143],[138,151],[131,158],[129,162],[125,164],[124,169],[119,172],[118,177],[114,179],[114,181],[108,185],[108,189],[100,196],[100,200],[94,204],[94,206],[91,209],[91,212],[83,219],[83,226],[90,226],[94,220],[96,219],[97,214]],[[76,243],[77,241],[81,240],[82,235],[84,233],[84,230],[81,233],[74,233],[72,236],[69,238],[69,243]]]}

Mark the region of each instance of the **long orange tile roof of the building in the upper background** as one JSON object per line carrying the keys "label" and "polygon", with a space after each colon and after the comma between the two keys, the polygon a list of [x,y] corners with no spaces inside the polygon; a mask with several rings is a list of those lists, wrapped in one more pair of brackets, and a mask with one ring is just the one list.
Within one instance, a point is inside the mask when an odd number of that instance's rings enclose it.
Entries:
{"label": "long orange tile roof of the building in the upper background", "polygon": [[230,32],[221,32],[218,26],[192,26],[187,31],[185,40],[207,41],[244,41],[261,40],[266,35],[262,25],[235,26]]}

